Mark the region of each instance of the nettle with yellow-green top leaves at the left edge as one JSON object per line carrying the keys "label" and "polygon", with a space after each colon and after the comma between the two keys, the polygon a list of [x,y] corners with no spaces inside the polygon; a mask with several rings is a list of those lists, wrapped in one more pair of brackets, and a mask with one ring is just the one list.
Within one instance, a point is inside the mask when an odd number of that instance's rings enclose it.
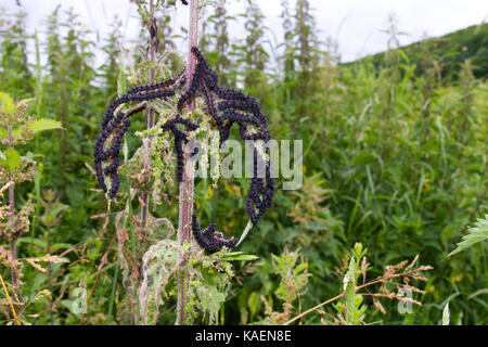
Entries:
{"label": "nettle with yellow-green top leaves at the left edge", "polygon": [[0,241],[10,246],[8,249],[0,245],[0,265],[11,270],[12,282],[5,283],[0,273],[2,290],[7,297],[0,300],[0,310],[13,324],[28,324],[23,317],[26,308],[41,298],[50,299],[52,294],[46,288],[34,296],[24,297],[22,293],[24,265],[28,264],[37,271],[47,273],[48,270],[41,264],[67,261],[49,254],[34,258],[17,257],[17,242],[22,235],[29,232],[34,205],[31,200],[27,200],[21,208],[17,208],[15,187],[31,181],[37,174],[35,155],[27,153],[21,156],[17,147],[33,140],[34,136],[40,131],[61,128],[61,124],[56,120],[29,117],[28,105],[29,100],[14,101],[11,95],[0,92],[0,194],[3,197],[3,194],[8,192],[8,204],[0,203]]}

